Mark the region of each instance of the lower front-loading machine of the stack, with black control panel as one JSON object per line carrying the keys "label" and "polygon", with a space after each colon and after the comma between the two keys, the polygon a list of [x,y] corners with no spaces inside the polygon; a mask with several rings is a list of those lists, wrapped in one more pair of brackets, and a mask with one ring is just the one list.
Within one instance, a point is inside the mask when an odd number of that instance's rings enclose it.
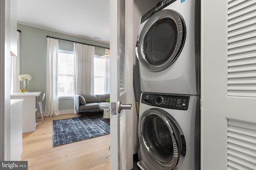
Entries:
{"label": "lower front-loading machine of the stack, with black control panel", "polygon": [[200,170],[198,96],[142,93],[138,135],[142,170]]}

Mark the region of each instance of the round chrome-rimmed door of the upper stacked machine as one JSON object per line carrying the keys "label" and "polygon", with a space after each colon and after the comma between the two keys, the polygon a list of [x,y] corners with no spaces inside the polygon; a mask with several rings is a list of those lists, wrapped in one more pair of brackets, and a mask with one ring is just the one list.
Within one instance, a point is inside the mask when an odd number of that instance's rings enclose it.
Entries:
{"label": "round chrome-rimmed door of the upper stacked machine", "polygon": [[161,10],[146,21],[139,35],[136,54],[152,72],[168,68],[183,48],[186,26],[178,12]]}

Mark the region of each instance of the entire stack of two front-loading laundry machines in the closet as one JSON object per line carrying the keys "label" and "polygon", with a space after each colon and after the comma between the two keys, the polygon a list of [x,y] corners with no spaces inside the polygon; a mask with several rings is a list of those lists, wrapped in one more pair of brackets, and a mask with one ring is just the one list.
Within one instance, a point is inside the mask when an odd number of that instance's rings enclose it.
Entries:
{"label": "entire stack of two front-loading laundry machines in the closet", "polygon": [[141,17],[142,170],[200,169],[200,2],[164,0]]}

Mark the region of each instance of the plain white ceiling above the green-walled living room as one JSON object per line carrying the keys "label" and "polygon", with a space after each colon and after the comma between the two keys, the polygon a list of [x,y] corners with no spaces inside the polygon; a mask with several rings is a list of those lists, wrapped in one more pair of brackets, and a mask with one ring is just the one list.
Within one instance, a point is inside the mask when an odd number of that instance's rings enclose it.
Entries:
{"label": "plain white ceiling above the green-walled living room", "polygon": [[17,0],[18,23],[106,43],[109,16],[109,0]]}

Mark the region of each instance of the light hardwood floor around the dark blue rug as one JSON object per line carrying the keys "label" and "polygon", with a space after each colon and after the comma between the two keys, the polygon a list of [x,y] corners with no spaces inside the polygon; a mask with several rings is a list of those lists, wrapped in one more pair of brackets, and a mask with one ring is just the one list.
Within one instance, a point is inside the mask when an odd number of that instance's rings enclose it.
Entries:
{"label": "light hardwood floor around the dark blue rug", "polygon": [[28,161],[28,170],[109,170],[110,135],[52,147],[52,120],[78,117],[62,114],[38,120],[35,132],[23,133],[21,160]]}

